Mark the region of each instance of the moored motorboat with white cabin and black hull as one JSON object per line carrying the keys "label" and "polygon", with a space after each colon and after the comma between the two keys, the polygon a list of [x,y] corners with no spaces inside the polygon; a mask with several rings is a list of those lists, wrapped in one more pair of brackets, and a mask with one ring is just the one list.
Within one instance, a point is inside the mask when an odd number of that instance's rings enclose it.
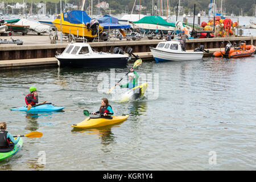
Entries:
{"label": "moored motorboat with white cabin and black hull", "polygon": [[[127,51],[129,52],[129,51]],[[130,53],[129,55],[131,55]],[[55,56],[60,67],[125,67],[131,56],[124,55],[121,48],[113,53],[93,51],[87,43],[70,43],[63,53]]]}

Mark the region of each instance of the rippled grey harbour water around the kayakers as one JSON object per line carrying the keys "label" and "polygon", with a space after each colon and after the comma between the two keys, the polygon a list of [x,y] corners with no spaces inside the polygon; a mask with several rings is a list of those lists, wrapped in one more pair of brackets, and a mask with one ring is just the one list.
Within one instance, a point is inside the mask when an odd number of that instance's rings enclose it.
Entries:
{"label": "rippled grey harbour water around the kayakers", "polygon": [[[156,64],[143,61],[137,72],[146,96],[120,104],[106,94],[127,68],[29,68],[0,72],[0,121],[23,147],[0,162],[0,170],[255,170],[256,58],[205,57]],[[115,79],[114,79],[115,77]],[[121,81],[127,82],[127,79]],[[39,102],[65,106],[60,112],[26,114],[28,88]],[[118,125],[73,130],[109,98]]]}

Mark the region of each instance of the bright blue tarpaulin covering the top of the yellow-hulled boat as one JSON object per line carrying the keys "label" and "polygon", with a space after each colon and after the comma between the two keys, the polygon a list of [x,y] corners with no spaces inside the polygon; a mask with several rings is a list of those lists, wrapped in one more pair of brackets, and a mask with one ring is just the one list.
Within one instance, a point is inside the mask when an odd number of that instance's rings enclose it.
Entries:
{"label": "bright blue tarpaulin covering the top of the yellow-hulled boat", "polygon": [[81,24],[90,22],[90,16],[85,11],[72,10],[63,13],[63,19],[69,23]]}

